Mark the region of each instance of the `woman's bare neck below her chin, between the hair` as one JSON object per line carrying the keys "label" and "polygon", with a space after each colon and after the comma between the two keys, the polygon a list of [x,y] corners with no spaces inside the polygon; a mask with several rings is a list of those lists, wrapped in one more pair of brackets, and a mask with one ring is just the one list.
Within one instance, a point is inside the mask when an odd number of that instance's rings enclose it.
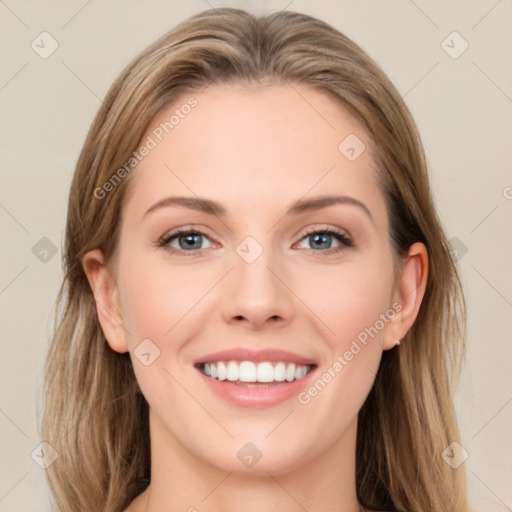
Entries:
{"label": "woman's bare neck below her chin, between the hair", "polygon": [[355,484],[357,420],[335,445],[291,469],[265,467],[264,454],[250,470],[214,467],[183,447],[152,412],[150,430],[151,484],[125,512],[363,510]]}

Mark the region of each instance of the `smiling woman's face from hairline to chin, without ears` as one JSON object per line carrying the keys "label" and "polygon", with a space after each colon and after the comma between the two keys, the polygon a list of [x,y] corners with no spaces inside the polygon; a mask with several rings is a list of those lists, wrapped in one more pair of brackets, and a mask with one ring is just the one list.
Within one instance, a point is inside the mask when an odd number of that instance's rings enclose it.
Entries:
{"label": "smiling woman's face from hairline to chin, without ears", "polygon": [[[152,442],[225,471],[261,455],[253,473],[335,453],[405,334],[368,135],[306,86],[212,85],[148,137],[113,273],[122,329],[107,338],[130,352]],[[207,376],[206,361],[224,368]]]}

